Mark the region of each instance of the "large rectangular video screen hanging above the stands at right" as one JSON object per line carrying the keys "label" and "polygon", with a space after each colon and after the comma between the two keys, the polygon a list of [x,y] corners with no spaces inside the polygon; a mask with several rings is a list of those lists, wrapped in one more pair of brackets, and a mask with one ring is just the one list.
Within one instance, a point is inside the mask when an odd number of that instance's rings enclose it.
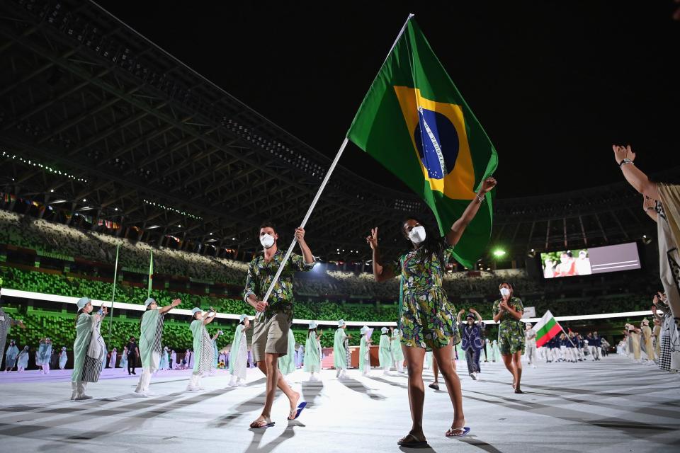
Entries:
{"label": "large rectangular video screen hanging above the stands at right", "polygon": [[541,253],[540,261],[545,278],[640,269],[638,244],[635,242]]}

